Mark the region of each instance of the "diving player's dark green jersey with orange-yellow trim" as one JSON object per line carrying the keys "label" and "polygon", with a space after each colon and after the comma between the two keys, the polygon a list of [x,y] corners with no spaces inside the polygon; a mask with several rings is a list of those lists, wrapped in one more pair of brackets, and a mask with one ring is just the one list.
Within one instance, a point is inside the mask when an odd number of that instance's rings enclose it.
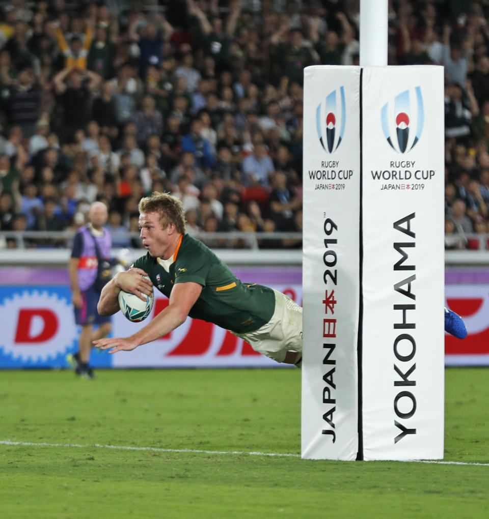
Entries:
{"label": "diving player's dark green jersey with orange-yellow trim", "polygon": [[169,272],[149,253],[138,258],[134,266],[146,271],[154,286],[167,297],[175,283],[193,281],[201,284],[201,295],[189,316],[235,333],[258,330],[271,319],[275,310],[272,289],[242,283],[212,250],[188,234],[183,235]]}

